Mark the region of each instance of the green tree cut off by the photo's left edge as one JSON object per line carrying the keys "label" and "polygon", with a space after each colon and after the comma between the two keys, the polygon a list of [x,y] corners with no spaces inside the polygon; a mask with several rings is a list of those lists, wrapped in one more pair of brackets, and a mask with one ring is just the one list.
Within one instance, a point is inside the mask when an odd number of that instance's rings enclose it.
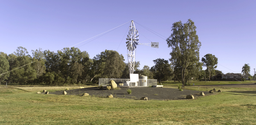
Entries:
{"label": "green tree cut off by the photo's left edge", "polygon": [[9,77],[10,73],[6,73],[8,72],[9,67],[10,67],[9,62],[6,59],[6,57],[3,57],[2,55],[0,55],[0,85],[2,80],[6,80]]}

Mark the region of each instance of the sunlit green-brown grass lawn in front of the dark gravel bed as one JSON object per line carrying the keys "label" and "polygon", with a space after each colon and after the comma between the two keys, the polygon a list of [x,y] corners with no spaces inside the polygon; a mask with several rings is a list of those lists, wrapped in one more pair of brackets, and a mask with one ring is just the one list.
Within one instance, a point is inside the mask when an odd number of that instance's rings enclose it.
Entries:
{"label": "sunlit green-brown grass lawn in front of the dark gravel bed", "polygon": [[0,124],[256,124],[256,90],[252,88],[227,88],[212,96],[172,101],[36,94],[64,88],[0,87]]}

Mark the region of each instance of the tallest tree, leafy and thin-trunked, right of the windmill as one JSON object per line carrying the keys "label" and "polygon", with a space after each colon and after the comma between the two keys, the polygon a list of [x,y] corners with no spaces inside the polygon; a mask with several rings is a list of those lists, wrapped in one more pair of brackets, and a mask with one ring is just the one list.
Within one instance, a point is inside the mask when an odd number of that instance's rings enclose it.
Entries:
{"label": "tallest tree, leafy and thin-trunked, right of the windmill", "polygon": [[180,67],[183,87],[187,67],[199,61],[201,42],[195,29],[196,26],[190,19],[184,24],[181,21],[175,22],[172,24],[172,34],[166,39],[168,47],[172,48],[171,60],[174,59],[177,67]]}

